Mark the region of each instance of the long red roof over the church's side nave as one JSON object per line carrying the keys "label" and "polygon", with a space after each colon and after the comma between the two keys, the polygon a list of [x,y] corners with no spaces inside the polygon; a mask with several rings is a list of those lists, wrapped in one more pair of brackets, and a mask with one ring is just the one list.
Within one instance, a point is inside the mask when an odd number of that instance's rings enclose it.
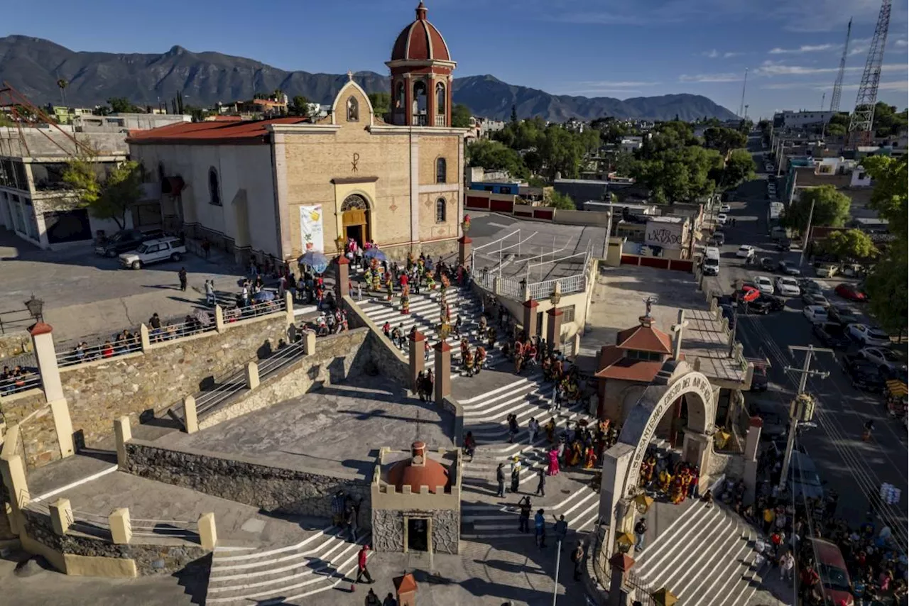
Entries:
{"label": "long red roof over the church's side nave", "polygon": [[265,144],[268,124],[299,124],[306,118],[294,115],[269,120],[241,122],[181,122],[145,131],[130,131],[130,144]]}

